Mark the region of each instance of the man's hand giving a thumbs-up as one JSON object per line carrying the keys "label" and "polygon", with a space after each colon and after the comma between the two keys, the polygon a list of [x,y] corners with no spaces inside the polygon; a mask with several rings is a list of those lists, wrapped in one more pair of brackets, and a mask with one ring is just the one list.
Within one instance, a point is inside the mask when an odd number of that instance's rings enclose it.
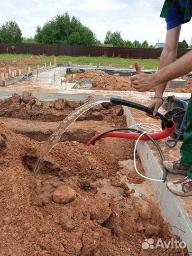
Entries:
{"label": "man's hand giving a thumbs-up", "polygon": [[137,91],[148,91],[158,84],[158,82],[155,81],[153,74],[148,75],[141,72],[141,69],[138,66],[137,62],[135,62],[135,68],[137,71],[137,75],[131,77],[131,82],[133,87]]}

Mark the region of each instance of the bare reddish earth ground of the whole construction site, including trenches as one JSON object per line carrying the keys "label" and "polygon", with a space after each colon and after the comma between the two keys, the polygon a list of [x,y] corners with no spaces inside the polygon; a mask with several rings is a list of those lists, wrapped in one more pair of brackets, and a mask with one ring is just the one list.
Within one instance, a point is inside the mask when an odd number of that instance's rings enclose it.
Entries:
{"label": "bare reddish earth ground of the whole construction site, including trenches", "polygon": [[[80,98],[42,102],[29,97],[24,102],[15,94],[12,99],[0,101],[0,256],[149,256],[151,251],[142,249],[145,239],[180,241],[165,220],[151,184],[135,172],[135,142],[105,138],[95,146],[86,146],[98,133],[127,127],[121,106],[104,103],[84,113],[51,150],[37,179],[32,176],[46,140],[69,113],[83,104],[82,94],[114,95],[146,106],[153,96],[153,92],[129,92],[128,77],[91,71],[73,78],[93,79],[93,90],[61,91],[54,88],[54,83],[38,86],[37,78],[0,87],[0,91],[75,93]],[[180,93],[174,95],[190,96],[188,87],[184,94],[177,90]],[[173,95],[173,91],[166,95]],[[136,123],[161,126],[159,120],[129,110]],[[166,112],[162,108],[160,111]],[[168,148],[165,140],[158,144],[166,160],[180,157],[181,142],[174,149]],[[155,147],[150,142],[148,145],[162,166]],[[138,155],[137,167],[145,175]],[[168,174],[168,181],[179,177]],[[67,204],[55,203],[53,192],[64,185],[76,192],[76,198]],[[191,197],[179,200],[192,220]],[[157,248],[153,255],[183,256],[187,250]]]}

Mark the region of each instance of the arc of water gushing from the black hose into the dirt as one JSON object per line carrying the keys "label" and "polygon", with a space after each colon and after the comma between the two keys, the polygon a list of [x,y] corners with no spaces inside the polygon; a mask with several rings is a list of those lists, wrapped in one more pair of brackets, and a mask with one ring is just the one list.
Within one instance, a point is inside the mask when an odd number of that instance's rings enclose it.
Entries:
{"label": "arc of water gushing from the black hose into the dirt", "polygon": [[41,155],[37,160],[35,168],[33,169],[33,176],[36,177],[38,171],[41,169],[43,162],[46,160],[46,157],[49,151],[57,145],[59,139],[61,138],[62,134],[69,128],[75,120],[80,117],[85,111],[90,110],[92,107],[104,103],[110,102],[110,98],[103,98],[99,100],[94,100],[91,102],[87,102],[83,104],[81,107],[77,108],[73,111],[70,115],[68,115],[55,129],[53,134],[48,138],[46,146],[42,149]]}

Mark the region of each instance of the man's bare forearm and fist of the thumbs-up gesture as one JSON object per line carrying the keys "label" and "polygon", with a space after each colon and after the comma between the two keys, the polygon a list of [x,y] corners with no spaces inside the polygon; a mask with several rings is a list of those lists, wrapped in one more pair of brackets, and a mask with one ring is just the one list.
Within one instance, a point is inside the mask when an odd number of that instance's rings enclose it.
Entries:
{"label": "man's bare forearm and fist of the thumbs-up gesture", "polygon": [[192,51],[183,55],[180,59],[172,64],[153,73],[138,73],[131,77],[132,85],[137,91],[148,91],[158,84],[168,82],[179,76],[192,71]]}

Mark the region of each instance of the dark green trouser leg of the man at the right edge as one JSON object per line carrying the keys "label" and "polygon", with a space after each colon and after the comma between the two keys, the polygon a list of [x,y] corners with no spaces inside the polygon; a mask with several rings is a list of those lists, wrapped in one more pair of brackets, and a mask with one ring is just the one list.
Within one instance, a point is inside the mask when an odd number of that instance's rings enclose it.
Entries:
{"label": "dark green trouser leg of the man at the right edge", "polygon": [[189,167],[188,176],[192,179],[192,94],[187,108],[187,128],[184,132],[184,139],[180,149],[182,158],[180,163]]}

